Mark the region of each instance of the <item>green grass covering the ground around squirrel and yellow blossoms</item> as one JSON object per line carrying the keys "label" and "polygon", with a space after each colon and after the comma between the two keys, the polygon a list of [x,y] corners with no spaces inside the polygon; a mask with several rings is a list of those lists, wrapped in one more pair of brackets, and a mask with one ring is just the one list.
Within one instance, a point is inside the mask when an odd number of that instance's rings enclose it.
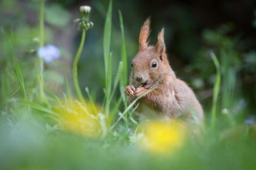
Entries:
{"label": "green grass covering the ground around squirrel and yellow blossoms", "polygon": [[[24,61],[13,55],[14,48],[12,54],[8,54],[13,56],[13,62],[8,56],[2,73],[0,169],[255,169],[254,126],[244,124],[239,118],[233,126],[229,126],[221,119],[219,101],[223,99],[223,65],[214,53],[210,54],[212,65],[216,68],[212,106],[209,111],[206,109],[206,125],[201,135],[191,139],[188,135],[181,149],[167,155],[154,154],[134,143],[132,139],[139,138],[137,130],[141,122],[133,112],[137,107],[136,101],[141,97],[129,105],[123,91],[128,82],[124,21],[119,11],[121,57],[117,58],[114,55],[116,52],[110,48],[112,6],[110,0],[103,35],[105,99],[103,103],[96,103],[89,88],[85,88],[85,99],[78,92],[78,100],[90,104],[94,112],[100,112],[97,116],[102,135],[87,138],[63,130],[58,120],[58,107],[65,105],[69,99],[76,99],[68,79],[66,92],[62,94],[55,94],[45,84],[45,103],[40,99],[41,84],[33,83],[41,73],[35,71],[36,75],[28,77]],[[42,21],[40,23],[42,27]],[[79,46],[78,53],[82,53],[82,48],[83,45]],[[114,65],[116,60],[119,61],[118,66]],[[113,71],[114,68],[117,68],[116,71]]]}

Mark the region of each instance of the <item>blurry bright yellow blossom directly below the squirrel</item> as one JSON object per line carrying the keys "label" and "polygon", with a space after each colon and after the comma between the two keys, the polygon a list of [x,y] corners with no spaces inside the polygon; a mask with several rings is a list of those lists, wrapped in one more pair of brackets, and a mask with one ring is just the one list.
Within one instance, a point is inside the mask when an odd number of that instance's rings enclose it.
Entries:
{"label": "blurry bright yellow blossom directly below the squirrel", "polygon": [[185,125],[177,121],[150,121],[145,124],[141,147],[164,154],[179,149],[185,138]]}

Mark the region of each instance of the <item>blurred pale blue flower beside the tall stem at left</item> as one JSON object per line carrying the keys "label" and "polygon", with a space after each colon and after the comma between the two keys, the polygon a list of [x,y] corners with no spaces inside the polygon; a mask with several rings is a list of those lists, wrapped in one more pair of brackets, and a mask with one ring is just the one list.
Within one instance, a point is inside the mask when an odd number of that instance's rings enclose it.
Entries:
{"label": "blurred pale blue flower beside the tall stem at left", "polygon": [[54,45],[46,45],[37,50],[37,55],[43,59],[45,63],[51,63],[53,60],[60,58],[60,50]]}

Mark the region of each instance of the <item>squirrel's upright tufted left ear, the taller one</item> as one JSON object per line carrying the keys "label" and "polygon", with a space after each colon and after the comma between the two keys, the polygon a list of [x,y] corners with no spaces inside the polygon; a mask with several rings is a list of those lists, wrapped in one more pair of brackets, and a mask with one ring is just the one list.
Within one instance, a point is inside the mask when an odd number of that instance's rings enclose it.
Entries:
{"label": "squirrel's upright tufted left ear, the taller one", "polygon": [[150,34],[150,18],[143,23],[139,36],[139,52],[148,47],[148,37]]}

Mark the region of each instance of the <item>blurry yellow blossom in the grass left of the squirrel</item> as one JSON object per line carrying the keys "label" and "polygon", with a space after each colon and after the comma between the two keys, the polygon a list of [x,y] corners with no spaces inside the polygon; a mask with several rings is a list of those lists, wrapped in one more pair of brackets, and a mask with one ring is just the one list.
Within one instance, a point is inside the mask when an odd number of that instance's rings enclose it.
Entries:
{"label": "blurry yellow blossom in the grass left of the squirrel", "polygon": [[101,134],[99,114],[89,102],[82,104],[77,100],[68,100],[57,109],[57,113],[58,122],[64,130],[86,137],[98,137]]}

